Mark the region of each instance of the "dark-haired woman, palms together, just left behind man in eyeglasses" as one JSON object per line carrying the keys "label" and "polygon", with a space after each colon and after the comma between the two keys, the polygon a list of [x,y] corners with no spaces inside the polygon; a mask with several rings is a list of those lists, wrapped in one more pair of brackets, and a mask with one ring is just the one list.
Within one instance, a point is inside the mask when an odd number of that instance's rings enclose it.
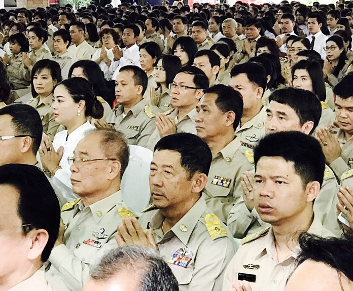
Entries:
{"label": "dark-haired woman, palms together, just left behind man in eyeglasses", "polygon": [[157,87],[151,87],[146,110],[154,115],[171,109],[169,85],[182,67],[177,56],[162,55],[157,58],[155,66],[155,81]]}

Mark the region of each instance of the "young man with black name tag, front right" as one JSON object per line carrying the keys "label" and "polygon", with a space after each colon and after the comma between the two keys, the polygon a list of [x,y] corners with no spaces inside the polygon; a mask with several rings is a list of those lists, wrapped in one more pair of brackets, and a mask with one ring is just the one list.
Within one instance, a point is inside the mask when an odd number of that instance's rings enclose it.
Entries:
{"label": "young man with black name tag, front right", "polygon": [[242,240],[227,267],[222,290],[285,288],[295,268],[298,235],[334,236],[313,213],[325,171],[325,156],[313,137],[301,132],[265,136],[255,149],[254,204],[271,227]]}

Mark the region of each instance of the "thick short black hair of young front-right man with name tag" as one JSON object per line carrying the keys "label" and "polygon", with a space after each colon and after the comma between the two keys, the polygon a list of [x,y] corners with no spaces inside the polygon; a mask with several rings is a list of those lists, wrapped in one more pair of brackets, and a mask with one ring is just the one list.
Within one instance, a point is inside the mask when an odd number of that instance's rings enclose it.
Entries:
{"label": "thick short black hair of young front-right man with name tag", "polygon": [[316,138],[299,131],[281,131],[267,134],[254,150],[255,169],[261,157],[281,157],[294,163],[302,185],[311,181],[323,184],[325,155]]}

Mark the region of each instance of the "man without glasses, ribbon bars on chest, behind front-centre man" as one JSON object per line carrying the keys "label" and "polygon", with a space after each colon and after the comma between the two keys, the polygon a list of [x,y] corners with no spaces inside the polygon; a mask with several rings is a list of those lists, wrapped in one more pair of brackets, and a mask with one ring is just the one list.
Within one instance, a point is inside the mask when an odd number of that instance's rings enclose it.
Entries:
{"label": "man without glasses, ribbon bars on chest, behind front-centre man", "polygon": [[245,157],[245,148],[234,136],[243,102],[237,91],[224,85],[215,85],[204,93],[195,120],[197,135],[207,142],[212,153],[204,198],[207,207],[226,223],[230,209],[242,195],[241,175],[253,168]]}

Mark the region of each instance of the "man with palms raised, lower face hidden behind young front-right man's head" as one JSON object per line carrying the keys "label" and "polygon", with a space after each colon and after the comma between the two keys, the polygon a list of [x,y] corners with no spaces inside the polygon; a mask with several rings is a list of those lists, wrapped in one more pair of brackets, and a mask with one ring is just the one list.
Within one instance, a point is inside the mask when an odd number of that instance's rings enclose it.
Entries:
{"label": "man with palms raised, lower face hidden behind young front-right man's head", "polygon": [[[321,104],[316,95],[309,91],[284,88],[271,94],[266,112],[266,134],[291,130],[311,134],[319,123]],[[261,221],[254,208],[255,181],[253,173],[245,173],[242,177],[242,184],[244,185],[242,197],[230,211],[227,221],[227,226],[236,232],[238,238],[254,234],[268,227],[268,224]],[[315,219],[319,220],[333,234],[340,236],[342,231],[337,221],[337,191],[338,184],[335,175],[328,166],[325,166],[323,185],[319,196],[315,199],[313,210]]]}

